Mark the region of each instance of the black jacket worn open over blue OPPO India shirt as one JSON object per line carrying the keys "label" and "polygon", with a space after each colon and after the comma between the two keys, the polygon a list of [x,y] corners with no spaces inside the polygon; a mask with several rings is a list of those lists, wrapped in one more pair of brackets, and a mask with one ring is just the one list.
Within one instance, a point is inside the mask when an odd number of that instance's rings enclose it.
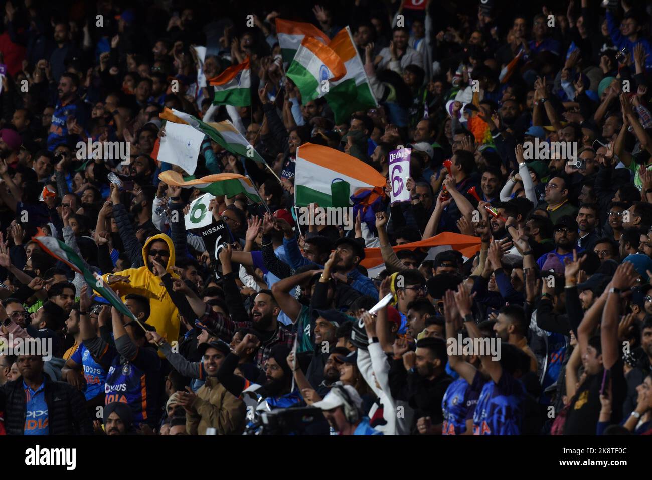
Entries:
{"label": "black jacket worn open over blue OPPO India shirt", "polygon": [[[53,382],[46,374],[43,378],[50,435],[93,435],[93,419],[86,410],[83,394],[68,383]],[[27,404],[23,378],[0,387],[0,397],[0,404],[5,403],[7,435],[22,435]]]}

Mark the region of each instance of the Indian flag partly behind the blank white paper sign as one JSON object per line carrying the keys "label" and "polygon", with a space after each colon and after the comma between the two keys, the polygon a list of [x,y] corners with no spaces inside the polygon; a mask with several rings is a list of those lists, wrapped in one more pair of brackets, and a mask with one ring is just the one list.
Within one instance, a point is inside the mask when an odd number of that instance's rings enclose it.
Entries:
{"label": "Indian flag partly behind the blank white paper sign", "polygon": [[246,138],[233,127],[233,123],[228,120],[219,123],[206,123],[196,119],[188,113],[179,112],[173,108],[166,108],[163,113],[159,113],[158,117],[162,120],[170,121],[173,123],[185,123],[190,125],[196,130],[204,132],[211,140],[218,143],[226,151],[230,151],[235,155],[241,157],[251,158],[256,162],[265,163],[263,157],[254,149],[253,145],[247,142]]}

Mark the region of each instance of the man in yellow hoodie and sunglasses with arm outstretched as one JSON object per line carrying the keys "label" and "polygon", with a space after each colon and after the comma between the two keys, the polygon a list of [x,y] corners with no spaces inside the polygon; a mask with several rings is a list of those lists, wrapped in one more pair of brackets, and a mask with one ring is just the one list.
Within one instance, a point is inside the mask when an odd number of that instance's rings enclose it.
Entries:
{"label": "man in yellow hoodie and sunglasses with arm outstretched", "polygon": [[137,293],[149,299],[151,314],[147,323],[154,325],[168,342],[173,342],[179,338],[179,312],[154,273],[153,266],[153,262],[166,265],[166,271],[173,278],[179,278],[171,269],[175,263],[172,239],[164,233],[149,237],[143,246],[143,260],[143,267],[108,273],[102,279],[113,290],[119,291],[123,298],[129,293]]}

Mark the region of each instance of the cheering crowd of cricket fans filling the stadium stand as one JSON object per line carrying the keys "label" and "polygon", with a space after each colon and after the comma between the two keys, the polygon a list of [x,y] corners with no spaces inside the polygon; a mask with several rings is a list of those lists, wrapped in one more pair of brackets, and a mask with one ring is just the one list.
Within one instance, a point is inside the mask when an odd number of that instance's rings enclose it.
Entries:
{"label": "cheering crowd of cricket fans filling the stadium stand", "polygon": [[[651,1],[163,4],[5,2],[0,434],[652,434]],[[373,104],[303,101],[276,19],[348,26]],[[213,104],[245,59],[250,105]],[[205,136],[183,172],[164,109],[265,162]],[[350,230],[298,221],[307,143],[388,178]],[[208,245],[166,170],[261,202],[211,200]]]}

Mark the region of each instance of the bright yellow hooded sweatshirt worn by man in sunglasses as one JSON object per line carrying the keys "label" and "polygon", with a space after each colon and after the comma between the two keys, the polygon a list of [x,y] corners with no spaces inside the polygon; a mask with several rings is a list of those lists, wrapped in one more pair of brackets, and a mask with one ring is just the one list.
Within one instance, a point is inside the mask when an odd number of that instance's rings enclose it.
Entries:
{"label": "bright yellow hooded sweatshirt worn by man in sunglasses", "polygon": [[[158,235],[149,238],[143,246],[143,261],[145,262],[145,266],[140,268],[130,268],[114,273],[113,275],[124,275],[125,277],[128,275],[130,282],[118,282],[111,285],[111,288],[113,288],[113,290],[119,290],[123,301],[125,301],[125,296],[130,293],[136,293],[149,299],[151,314],[146,323],[156,327],[158,334],[163,338],[166,338],[168,342],[173,342],[179,338],[179,311],[172,302],[170,295],[168,295],[168,291],[161,285],[160,278],[156,277],[156,275],[147,267],[147,252],[149,252],[149,246],[151,243],[156,240],[163,240],[168,244],[168,248],[170,248],[170,258],[168,258],[166,270],[171,273],[173,278],[179,278],[179,276],[171,270],[171,267],[174,266],[176,261],[172,239],[164,233],[159,233]],[[111,274],[106,274],[102,277],[107,284],[109,275]],[[160,352],[159,356],[162,356],[160,355]]]}

